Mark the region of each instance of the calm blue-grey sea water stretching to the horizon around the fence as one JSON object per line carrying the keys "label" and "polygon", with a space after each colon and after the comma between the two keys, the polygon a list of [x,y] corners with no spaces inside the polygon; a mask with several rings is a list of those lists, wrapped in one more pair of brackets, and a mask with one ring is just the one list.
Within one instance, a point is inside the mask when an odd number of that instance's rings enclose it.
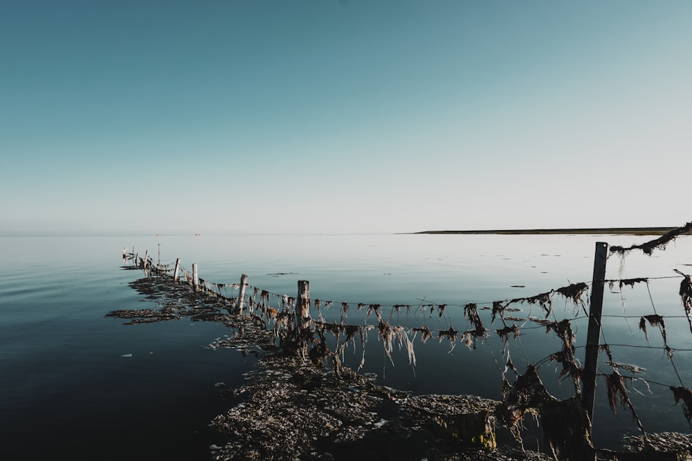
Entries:
{"label": "calm blue-grey sea water stretching to the horizon around the fence", "polygon": [[[3,459],[34,460],[66,455],[93,459],[208,459],[207,446],[221,444],[207,431],[208,421],[233,402],[218,396],[215,383],[242,383],[254,366],[252,357],[235,350],[208,350],[213,339],[228,334],[215,323],[181,320],[123,326],[104,317],[111,310],[154,307],[129,287],[143,274],[122,270],[122,247],[149,250],[162,263],[181,258],[188,270],[197,263],[201,278],[248,283],[275,294],[295,296],[298,280],[310,281],[311,297],[351,305],[349,323],[363,323],[357,303],[380,303],[383,314],[394,304],[412,305],[410,314],[392,324],[426,325],[433,330],[470,328],[460,305],[529,297],[570,283],[588,282],[594,245],[631,245],[652,237],[634,236],[127,236],[86,238],[0,238],[0,433]],[[673,268],[692,272],[690,238],[681,238],[654,256],[634,252],[621,265],[610,258],[606,278],[675,276]],[[513,286],[515,285],[515,286]],[[520,285],[520,286],[516,286]],[[666,320],[668,343],[685,386],[691,386],[692,335],[677,291],[680,279],[651,280],[605,293],[604,313],[632,316],[603,320],[605,341],[630,346],[662,346],[660,333],[638,330],[639,316],[653,313]],[[617,287],[614,291],[617,290]],[[580,317],[571,301],[554,296],[557,319]],[[424,301],[421,301],[424,300]],[[449,305],[440,317],[421,303]],[[487,304],[484,304],[487,305]],[[482,307],[482,305],[479,305]],[[513,306],[515,307],[515,306]],[[517,317],[543,317],[540,308],[518,305]],[[338,321],[338,309],[323,310]],[[490,312],[482,311],[486,326]],[[675,316],[675,318],[673,318]],[[581,313],[583,317],[583,312]],[[371,317],[368,323],[374,323]],[[521,326],[522,324],[520,324]],[[587,322],[574,321],[576,346],[585,344]],[[560,349],[552,333],[528,322],[520,341],[510,340],[517,368],[540,361]],[[470,393],[500,398],[504,364],[502,343],[491,336],[469,350],[437,337],[415,343],[417,366],[404,352],[394,364],[384,357],[376,335],[366,346],[363,371],[379,382],[415,393]],[[353,350],[352,348],[349,350]],[[646,368],[651,382],[680,386],[680,379],[660,348],[612,346],[614,359]],[[131,357],[122,357],[130,355]],[[360,358],[360,344],[351,353]],[[577,350],[583,358],[583,348]],[[610,373],[601,366],[603,373]],[[541,376],[558,397],[573,393],[570,382],[557,382],[558,368],[543,365]],[[511,372],[510,372],[511,373]],[[624,374],[624,372],[623,372]],[[508,375],[512,381],[513,377]],[[636,433],[630,413],[612,415],[599,378],[594,435],[598,446],[618,446],[621,435]],[[639,395],[637,391],[643,395]],[[689,431],[680,405],[673,406],[665,386],[635,382],[630,393],[650,432]]]}

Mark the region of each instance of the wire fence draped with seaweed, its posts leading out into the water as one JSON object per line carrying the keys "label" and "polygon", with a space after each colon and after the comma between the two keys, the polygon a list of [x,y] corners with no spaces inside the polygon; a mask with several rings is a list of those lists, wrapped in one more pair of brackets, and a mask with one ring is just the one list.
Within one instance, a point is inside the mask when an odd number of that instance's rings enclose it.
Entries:
{"label": "wire fence draped with seaweed, its posts leading out into the water", "polygon": [[[682,234],[688,234],[692,230],[692,223],[684,227],[673,229],[664,236],[653,241],[632,245],[632,247],[611,247],[610,255],[624,256],[628,252],[641,250],[645,254],[652,254],[656,249],[664,249],[666,243],[677,238]],[[536,399],[531,399],[531,395],[545,391],[543,383],[538,377],[537,370],[545,364],[557,364],[561,366],[558,373],[558,382],[569,379],[574,385],[574,397],[581,402],[583,408],[593,420],[594,393],[597,386],[597,377],[605,384],[608,396],[608,405],[613,413],[619,407],[630,411],[632,419],[636,422],[641,431],[642,440],[646,443],[653,440],[647,436],[646,427],[642,424],[637,415],[635,404],[631,395],[631,390],[635,383],[644,383],[650,389],[651,386],[666,388],[666,392],[671,393],[671,402],[680,403],[682,413],[688,422],[692,420],[692,391],[685,385],[683,377],[675,364],[675,352],[682,352],[690,349],[675,348],[671,346],[671,323],[675,319],[686,319],[689,324],[689,331],[692,333],[692,321],[689,318],[692,308],[692,282],[689,275],[676,270],[675,276],[639,277],[636,279],[614,279],[605,280],[605,261],[608,245],[597,243],[596,261],[594,261],[594,276],[591,281],[582,283],[572,283],[565,287],[555,288],[549,292],[543,292],[531,297],[517,299],[504,299],[501,301],[464,303],[464,304],[438,304],[420,301],[416,305],[381,305],[370,303],[349,303],[323,301],[320,299],[309,298],[309,287],[307,282],[299,281],[298,294],[296,297],[274,294],[267,290],[253,287],[247,283],[247,276],[241,277],[240,283],[211,283],[199,279],[197,265],[192,265],[192,271],[186,270],[180,265],[180,260],[176,263],[161,265],[149,258],[148,252],[144,258],[138,254],[128,253],[123,250],[123,262],[130,259],[151,274],[167,276],[177,282],[184,280],[189,283],[195,291],[201,291],[209,296],[216,297],[227,305],[228,312],[246,312],[262,318],[268,327],[273,328],[275,335],[281,338],[310,339],[315,346],[309,351],[313,359],[326,359],[328,356],[336,361],[343,361],[343,355],[347,345],[353,344],[355,348],[356,340],[359,340],[363,349],[363,356],[359,366],[363,366],[365,359],[365,343],[367,333],[376,332],[381,340],[385,355],[393,361],[392,351],[394,346],[405,350],[411,364],[415,365],[415,342],[426,342],[428,339],[438,339],[448,341],[450,348],[461,342],[470,349],[476,349],[479,344],[487,346],[493,360],[498,366],[501,379],[505,384],[504,402],[507,420],[514,424],[520,424],[521,416],[529,410],[529,406],[537,406]],[[680,283],[680,298],[684,307],[684,316],[662,315],[657,312],[654,298],[651,294],[650,283],[664,281],[666,279],[682,279]],[[628,314],[625,309],[625,298],[622,296],[623,313],[621,315],[606,314],[601,317],[601,306],[603,304],[603,288],[608,286],[610,292],[622,293],[623,289],[635,287],[646,287],[648,298],[650,299],[650,311],[639,314]],[[591,297],[587,299],[588,289],[591,288]],[[619,290],[619,292],[614,291]],[[574,305],[574,315],[572,317],[558,320],[553,308],[553,301],[556,297],[570,300]],[[298,302],[296,302],[298,300]],[[296,306],[300,306],[296,310]],[[587,312],[587,305],[589,312]],[[518,317],[518,312],[523,312],[523,307],[529,308],[529,314],[525,317]],[[533,309],[540,312],[532,315]],[[312,310],[312,315],[310,314]],[[332,318],[338,321],[325,321],[325,312],[331,311]],[[355,311],[355,312],[354,312]],[[393,320],[401,320],[400,314],[406,313],[406,320],[410,320],[413,312],[414,322],[401,322],[394,325]],[[430,328],[430,326],[418,323],[421,314],[432,319],[446,319],[448,328]],[[349,316],[351,321],[349,321]],[[311,318],[316,317],[316,318]],[[356,317],[361,323],[352,323]],[[371,320],[372,319],[372,320]],[[455,330],[450,325],[452,320],[462,320],[466,322],[465,330]],[[589,331],[587,344],[585,346],[585,363],[582,368],[581,362],[576,358],[575,334],[572,326],[576,322],[583,322],[589,319]],[[605,319],[605,320],[603,320]],[[666,319],[668,323],[666,324]],[[376,323],[374,322],[376,320]],[[605,326],[603,325],[605,321]],[[635,331],[630,325],[630,321],[635,324],[635,330],[643,337],[645,344],[635,341],[635,344],[626,344],[624,341],[617,343],[609,342],[610,325],[614,321],[624,321],[628,330]],[[673,322],[671,322],[673,321]],[[349,323],[350,322],[350,323]],[[497,323],[496,323],[497,322]],[[408,323],[408,324],[407,324]],[[501,328],[492,328],[497,325]],[[676,325],[677,326],[677,325]],[[522,344],[522,336],[531,335],[537,330],[545,330],[552,333],[560,345],[557,350],[547,356],[529,359],[527,348]],[[652,345],[652,333],[657,331],[662,343]],[[336,346],[326,347],[325,335],[334,337],[331,344]],[[618,337],[618,335],[612,335]],[[681,340],[680,332],[675,332],[675,340]],[[500,341],[502,346],[502,359],[495,357],[490,345],[490,341]],[[307,347],[307,344],[306,344]],[[668,377],[674,376],[669,382],[666,379],[648,379],[641,375],[643,368],[636,364],[626,364],[625,360],[619,359],[619,351],[626,348],[637,348],[637,350],[654,350],[664,355],[672,370]],[[616,352],[617,351],[617,352]],[[307,349],[306,349],[307,352]],[[626,354],[624,354],[626,355]],[[512,357],[522,357],[525,360],[526,372],[521,373],[520,366],[516,366]],[[603,365],[608,371],[602,371],[599,367],[599,358],[603,357]],[[620,361],[618,361],[620,360]],[[336,364],[336,362],[334,362]],[[517,363],[520,363],[517,361]],[[509,382],[507,375],[513,375],[515,381]],[[665,374],[664,374],[665,375]],[[508,397],[509,396],[509,397]],[[545,404],[545,402],[543,402]],[[513,429],[520,429],[515,426]],[[591,426],[589,424],[588,431]]]}

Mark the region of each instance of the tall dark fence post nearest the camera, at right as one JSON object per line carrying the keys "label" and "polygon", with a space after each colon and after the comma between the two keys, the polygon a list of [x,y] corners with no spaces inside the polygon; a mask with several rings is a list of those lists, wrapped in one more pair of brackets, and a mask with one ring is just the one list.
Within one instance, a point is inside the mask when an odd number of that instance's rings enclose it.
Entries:
{"label": "tall dark fence post nearest the camera, at right", "polygon": [[[589,420],[594,419],[596,397],[596,372],[599,362],[599,340],[601,339],[601,313],[603,312],[603,285],[605,284],[605,261],[608,258],[608,243],[596,243],[594,256],[594,278],[591,285],[591,308],[589,330],[586,334],[586,356],[584,359],[584,391],[582,402]],[[588,428],[591,433],[591,426]]]}

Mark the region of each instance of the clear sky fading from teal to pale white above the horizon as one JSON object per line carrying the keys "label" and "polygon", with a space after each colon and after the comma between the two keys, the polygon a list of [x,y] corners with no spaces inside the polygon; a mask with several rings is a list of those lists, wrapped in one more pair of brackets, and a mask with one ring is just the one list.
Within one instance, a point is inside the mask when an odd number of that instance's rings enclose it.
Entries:
{"label": "clear sky fading from teal to pale white above the horizon", "polygon": [[0,235],[692,220],[692,1],[1,0]]}

